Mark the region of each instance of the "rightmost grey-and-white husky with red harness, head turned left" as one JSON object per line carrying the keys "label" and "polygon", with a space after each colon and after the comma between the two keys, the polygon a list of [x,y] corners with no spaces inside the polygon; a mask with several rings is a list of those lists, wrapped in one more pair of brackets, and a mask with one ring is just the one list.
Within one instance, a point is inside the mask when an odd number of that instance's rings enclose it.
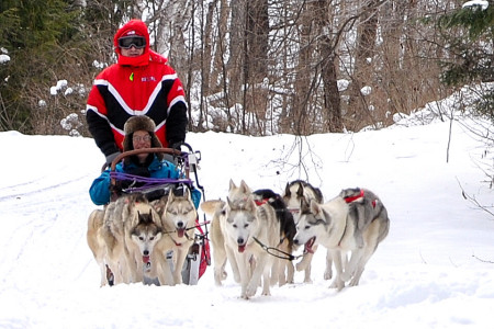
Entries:
{"label": "rightmost grey-and-white husky with red harness, head turned left", "polygon": [[[359,284],[367,262],[390,229],[382,202],[369,190],[362,191],[360,196],[360,190],[344,190],[325,204],[312,201],[296,224],[295,245],[311,249],[318,241],[330,251],[336,268],[332,287],[338,291],[347,281],[350,281],[350,286]],[[341,258],[347,252],[351,257],[348,263],[344,263]]]}

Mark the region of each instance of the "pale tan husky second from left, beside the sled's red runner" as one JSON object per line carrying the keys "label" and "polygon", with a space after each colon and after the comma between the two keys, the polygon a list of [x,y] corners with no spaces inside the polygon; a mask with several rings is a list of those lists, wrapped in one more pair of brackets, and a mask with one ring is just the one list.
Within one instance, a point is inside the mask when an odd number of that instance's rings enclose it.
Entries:
{"label": "pale tan husky second from left, beside the sled's red runner", "polygon": [[[198,212],[190,191],[184,189],[183,195],[176,195],[176,193],[177,191],[169,193],[166,205],[162,207],[164,236],[156,243],[151,254],[150,276],[157,276],[160,285],[182,283],[182,266],[195,238]],[[171,268],[166,260],[169,251],[172,251]],[[156,266],[153,265],[154,262],[156,262]]]}

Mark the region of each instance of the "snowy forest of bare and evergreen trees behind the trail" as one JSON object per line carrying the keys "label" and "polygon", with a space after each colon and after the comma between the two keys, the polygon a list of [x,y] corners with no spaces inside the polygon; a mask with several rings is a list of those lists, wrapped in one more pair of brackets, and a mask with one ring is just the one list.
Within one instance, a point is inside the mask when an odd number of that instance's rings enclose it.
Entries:
{"label": "snowy forest of bare and evergreen trees behind the trail", "polygon": [[132,18],[178,71],[190,132],[379,129],[465,86],[494,117],[491,0],[2,0],[0,131],[89,136],[89,90]]}

